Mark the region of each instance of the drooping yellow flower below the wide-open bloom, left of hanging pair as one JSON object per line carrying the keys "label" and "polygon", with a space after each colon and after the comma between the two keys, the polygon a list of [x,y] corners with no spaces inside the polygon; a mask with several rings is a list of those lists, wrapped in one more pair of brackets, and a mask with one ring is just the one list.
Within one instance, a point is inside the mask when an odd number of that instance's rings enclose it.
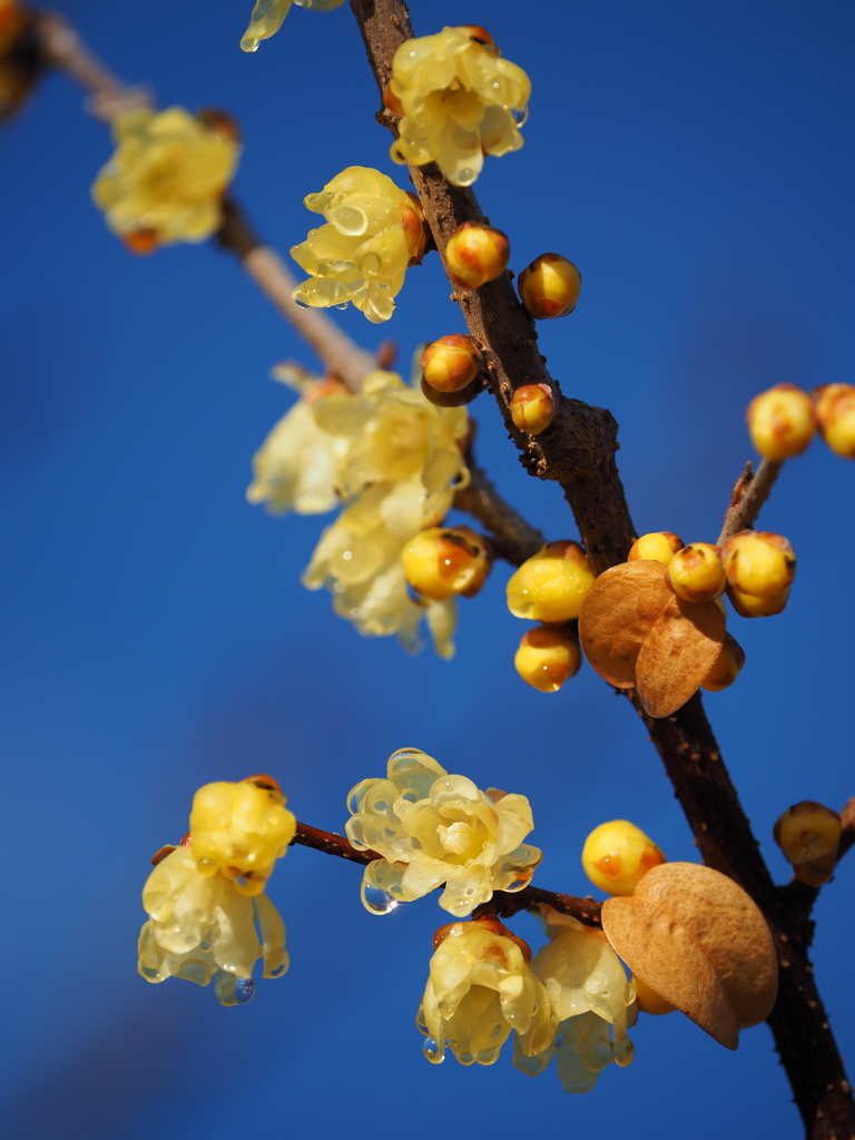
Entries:
{"label": "drooping yellow flower below the wide-open bloom, left of hanging pair", "polygon": [[461,1065],[491,1065],[513,1029],[526,1054],[548,1048],[555,1020],[521,938],[487,919],[443,927],[434,945],[416,1018],[430,1061],[445,1060],[448,1047]]}

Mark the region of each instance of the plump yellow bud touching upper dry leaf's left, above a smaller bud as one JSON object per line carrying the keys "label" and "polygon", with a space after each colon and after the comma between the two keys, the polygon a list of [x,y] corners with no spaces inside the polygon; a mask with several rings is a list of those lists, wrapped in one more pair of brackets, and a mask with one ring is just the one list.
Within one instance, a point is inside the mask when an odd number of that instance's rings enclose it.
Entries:
{"label": "plump yellow bud touching upper dry leaf's left, above a smaller bud", "polygon": [[579,617],[594,571],[578,543],[546,543],[507,584],[507,608],[515,618],[562,625]]}

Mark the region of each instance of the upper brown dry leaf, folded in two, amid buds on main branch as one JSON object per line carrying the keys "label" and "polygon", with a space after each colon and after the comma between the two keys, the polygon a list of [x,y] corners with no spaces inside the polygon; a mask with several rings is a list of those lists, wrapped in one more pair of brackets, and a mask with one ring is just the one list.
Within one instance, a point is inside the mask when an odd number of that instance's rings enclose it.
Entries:
{"label": "upper brown dry leaf, folded in two, amid buds on main branch", "polygon": [[649,716],[676,712],[707,678],[725,635],[715,602],[685,602],[660,562],[624,562],[601,573],[579,614],[579,641],[596,671],[635,686]]}

